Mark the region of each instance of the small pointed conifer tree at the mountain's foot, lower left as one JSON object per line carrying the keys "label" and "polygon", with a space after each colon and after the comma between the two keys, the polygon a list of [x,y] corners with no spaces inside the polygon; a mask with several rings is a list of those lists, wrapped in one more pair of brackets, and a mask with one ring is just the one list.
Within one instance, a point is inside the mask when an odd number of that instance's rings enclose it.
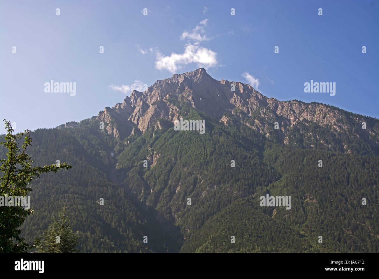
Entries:
{"label": "small pointed conifer tree at the mountain's foot, lower left", "polygon": [[36,239],[39,253],[75,253],[80,252],[76,249],[78,232],[74,233],[71,229],[69,219],[66,215],[67,206],[59,212],[60,219],[53,216],[54,222],[42,233],[41,238]]}

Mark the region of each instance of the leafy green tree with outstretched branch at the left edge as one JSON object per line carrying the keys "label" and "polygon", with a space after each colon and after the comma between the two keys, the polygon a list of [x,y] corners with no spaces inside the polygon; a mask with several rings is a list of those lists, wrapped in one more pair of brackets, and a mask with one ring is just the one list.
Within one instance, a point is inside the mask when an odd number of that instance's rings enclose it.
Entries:
{"label": "leafy green tree with outstretched branch at the left edge", "polygon": [[[32,167],[31,157],[26,153],[27,147],[31,146],[30,131],[13,134],[10,121],[6,121],[7,134],[5,141],[0,142],[8,149],[7,159],[1,159],[0,166],[0,197],[8,202],[9,197],[26,197],[32,189],[28,185],[41,173],[57,172],[60,169],[70,169],[72,166],[62,163],[60,166],[50,165],[44,167]],[[21,148],[17,140],[25,137]],[[4,204],[5,205],[5,204]],[[21,206],[0,206],[0,252],[27,252],[33,246],[29,245],[24,238],[20,237],[20,226],[25,218],[33,214],[33,210]]]}

